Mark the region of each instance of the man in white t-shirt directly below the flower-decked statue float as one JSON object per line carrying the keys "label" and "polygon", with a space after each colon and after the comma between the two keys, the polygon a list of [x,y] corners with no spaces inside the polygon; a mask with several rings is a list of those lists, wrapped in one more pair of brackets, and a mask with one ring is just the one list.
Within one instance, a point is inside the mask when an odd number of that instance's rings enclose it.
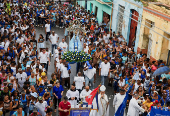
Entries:
{"label": "man in white t-shirt directly below the flower-decked statue float", "polygon": [[83,86],[85,86],[84,77],[81,75],[81,72],[78,72],[78,76],[74,77],[74,83],[76,85],[76,89],[79,93],[82,91]]}

